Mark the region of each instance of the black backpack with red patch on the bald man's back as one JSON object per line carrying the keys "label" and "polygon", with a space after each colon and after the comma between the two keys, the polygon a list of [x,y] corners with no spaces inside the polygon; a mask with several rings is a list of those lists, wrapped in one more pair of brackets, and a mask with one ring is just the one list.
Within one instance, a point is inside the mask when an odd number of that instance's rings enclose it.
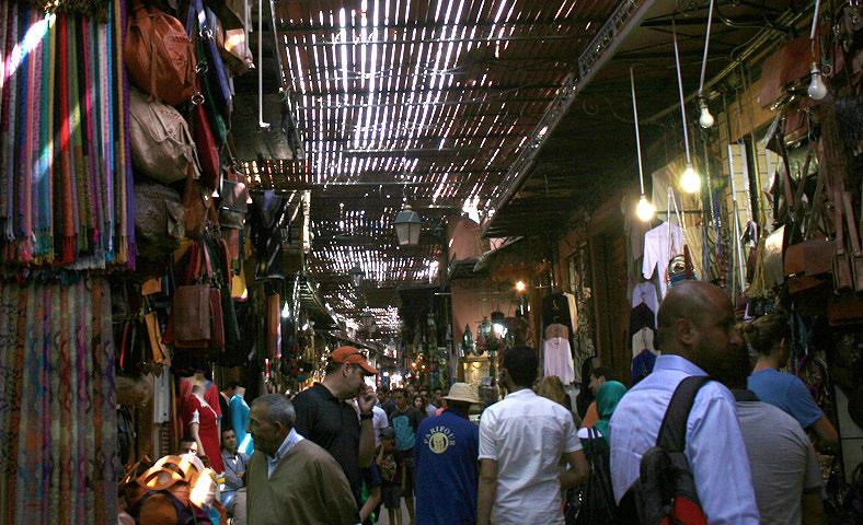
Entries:
{"label": "black backpack with red patch on the bald man's back", "polygon": [[684,454],[687,420],[706,376],[683,380],[663,418],[656,446],[641,460],[641,477],[620,502],[619,523],[707,525]]}

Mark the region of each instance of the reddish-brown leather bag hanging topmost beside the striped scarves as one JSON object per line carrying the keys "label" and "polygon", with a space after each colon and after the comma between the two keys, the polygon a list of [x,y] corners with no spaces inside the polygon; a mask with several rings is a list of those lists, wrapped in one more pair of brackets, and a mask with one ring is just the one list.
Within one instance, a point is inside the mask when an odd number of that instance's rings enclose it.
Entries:
{"label": "reddish-brown leather bag hanging topmost beside the striped scarves", "polygon": [[135,1],[123,59],[133,83],[172,106],[195,94],[195,52],[183,24]]}

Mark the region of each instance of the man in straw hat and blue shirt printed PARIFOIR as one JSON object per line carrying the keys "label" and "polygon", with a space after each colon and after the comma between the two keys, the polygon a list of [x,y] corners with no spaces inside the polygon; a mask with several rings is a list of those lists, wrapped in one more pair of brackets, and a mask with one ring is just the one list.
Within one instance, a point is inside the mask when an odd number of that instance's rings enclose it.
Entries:
{"label": "man in straw hat and blue shirt printed PARIFOIR", "polygon": [[476,523],[480,428],[468,412],[480,396],[475,386],[456,383],[445,399],[449,408],[424,419],[416,432],[417,525]]}

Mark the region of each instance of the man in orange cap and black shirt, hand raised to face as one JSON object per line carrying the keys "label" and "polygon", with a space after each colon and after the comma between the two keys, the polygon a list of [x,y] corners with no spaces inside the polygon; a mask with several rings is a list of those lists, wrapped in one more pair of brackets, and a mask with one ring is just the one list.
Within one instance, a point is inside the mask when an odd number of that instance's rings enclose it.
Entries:
{"label": "man in orange cap and black shirt, hand raised to face", "polygon": [[[375,392],[365,377],[378,373],[354,347],[341,347],[326,362],[321,383],[294,398],[297,432],[325,448],[345,471],[359,505],[363,476],[360,468],[375,458],[375,430],[371,425]],[[356,398],[359,420],[348,402]]]}

